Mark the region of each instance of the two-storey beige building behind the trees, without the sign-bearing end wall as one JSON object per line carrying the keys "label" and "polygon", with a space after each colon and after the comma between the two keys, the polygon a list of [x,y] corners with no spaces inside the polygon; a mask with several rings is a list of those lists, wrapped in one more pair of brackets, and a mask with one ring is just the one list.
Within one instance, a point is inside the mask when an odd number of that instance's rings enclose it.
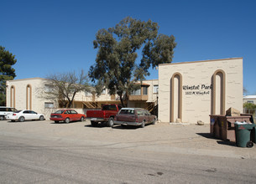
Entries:
{"label": "two-storey beige building behind the trees, without the sign-bearing end wall", "polygon": [[[145,80],[141,86],[128,96],[128,106],[142,107],[150,111],[155,110],[157,105],[158,80]],[[58,100],[45,98],[44,93],[50,90],[47,79],[30,78],[14,79],[7,81],[6,105],[17,110],[34,110],[43,113],[46,119],[50,118],[50,113],[60,109]],[[81,91],[76,94],[72,109],[79,113],[86,114],[88,109],[101,109],[102,105],[120,105],[118,95],[109,95],[108,89],[102,91],[102,95],[97,96]]]}

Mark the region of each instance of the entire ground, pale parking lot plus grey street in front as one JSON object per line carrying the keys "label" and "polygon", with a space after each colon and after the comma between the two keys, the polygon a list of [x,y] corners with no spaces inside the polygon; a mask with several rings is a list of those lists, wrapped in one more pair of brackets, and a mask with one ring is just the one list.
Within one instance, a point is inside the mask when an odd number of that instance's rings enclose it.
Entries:
{"label": "entire ground, pale parking lot plus grey street in front", "polygon": [[0,183],[255,183],[255,146],[209,125],[0,121]]}

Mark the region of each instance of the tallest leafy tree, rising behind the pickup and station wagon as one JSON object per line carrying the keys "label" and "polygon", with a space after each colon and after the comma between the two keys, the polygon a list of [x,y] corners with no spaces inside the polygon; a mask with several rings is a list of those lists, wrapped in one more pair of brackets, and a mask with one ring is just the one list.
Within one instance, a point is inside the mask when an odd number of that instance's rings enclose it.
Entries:
{"label": "tallest leafy tree, rising behind the pickup and station wagon", "polygon": [[[158,30],[158,23],[128,17],[113,28],[97,32],[93,42],[94,49],[98,49],[97,59],[89,77],[98,95],[107,88],[110,95],[118,94],[125,106],[123,97],[138,88],[136,81],[145,79],[150,67],[171,63],[175,37],[159,34]],[[140,61],[138,52],[142,54]]]}

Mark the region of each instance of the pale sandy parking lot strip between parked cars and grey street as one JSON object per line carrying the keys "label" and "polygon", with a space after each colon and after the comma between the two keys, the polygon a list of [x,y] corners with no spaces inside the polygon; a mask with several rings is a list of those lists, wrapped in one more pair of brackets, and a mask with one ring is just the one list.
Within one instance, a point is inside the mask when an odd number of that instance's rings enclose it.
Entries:
{"label": "pale sandy parking lot strip between parked cars and grey street", "polygon": [[144,128],[133,126],[113,128],[92,127],[88,120],[55,124],[50,120],[11,122],[0,121],[0,134],[44,139],[72,144],[136,147],[142,151],[173,152],[197,156],[220,156],[255,159],[256,146],[240,148],[234,142],[217,140],[209,134],[209,125],[170,125],[157,123]]}

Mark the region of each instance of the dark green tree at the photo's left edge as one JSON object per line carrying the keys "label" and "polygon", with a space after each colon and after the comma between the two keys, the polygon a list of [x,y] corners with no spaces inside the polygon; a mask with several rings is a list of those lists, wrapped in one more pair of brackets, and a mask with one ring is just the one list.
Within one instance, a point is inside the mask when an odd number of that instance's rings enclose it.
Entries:
{"label": "dark green tree at the photo's left edge", "polygon": [[15,55],[9,53],[4,47],[0,46],[0,105],[6,105],[6,81],[16,77],[15,69],[12,68],[16,64]]}

